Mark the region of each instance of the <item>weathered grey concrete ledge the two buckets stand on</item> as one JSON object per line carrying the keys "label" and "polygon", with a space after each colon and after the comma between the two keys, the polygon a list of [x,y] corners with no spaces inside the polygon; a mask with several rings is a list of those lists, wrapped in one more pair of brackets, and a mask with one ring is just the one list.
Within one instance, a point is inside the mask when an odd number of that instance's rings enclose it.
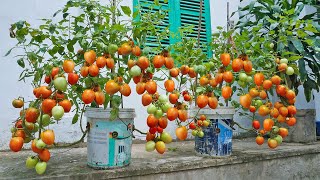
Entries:
{"label": "weathered grey concrete ledge the two buckets stand on", "polygon": [[134,144],[129,166],[93,170],[86,148],[53,149],[45,175],[24,167],[30,151],[0,152],[0,179],[320,179],[320,142],[283,143],[276,150],[254,139],[234,140],[233,154],[224,158],[196,156],[194,142],[175,142],[159,155]]}

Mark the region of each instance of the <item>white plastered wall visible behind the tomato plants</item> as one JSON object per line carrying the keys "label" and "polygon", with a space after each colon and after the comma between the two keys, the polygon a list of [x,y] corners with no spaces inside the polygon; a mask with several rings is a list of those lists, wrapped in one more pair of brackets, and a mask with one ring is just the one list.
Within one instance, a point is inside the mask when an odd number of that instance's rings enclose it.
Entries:
{"label": "white plastered wall visible behind the tomato plants", "polygon": [[[237,9],[239,0],[228,0],[230,2],[230,13]],[[12,99],[23,96],[27,99],[32,99],[32,87],[29,82],[18,82],[21,68],[17,65],[16,59],[13,58],[15,52],[13,51],[8,57],[4,57],[4,54],[12,46],[14,46],[15,40],[9,37],[10,24],[18,20],[27,20],[31,25],[39,25],[40,18],[50,18],[50,16],[61,8],[67,0],[52,1],[52,0],[11,0],[4,1],[0,6],[0,59],[2,62],[2,69],[0,71],[0,149],[8,149],[8,142],[10,140],[10,127],[11,122],[18,117],[19,110],[14,109],[11,106]],[[108,2],[104,0],[103,2]],[[211,25],[212,31],[215,31],[217,26],[226,26],[226,2],[227,1],[210,1],[211,6]],[[132,0],[124,0],[122,4],[128,6],[132,5]],[[236,19],[237,15],[233,17]],[[133,87],[131,85],[131,87]],[[136,109],[135,125],[142,131],[147,131],[146,125],[146,109],[141,105],[141,96],[138,96],[135,92],[135,88],[132,88],[132,96],[125,99],[125,107],[131,107]],[[64,142],[72,142],[77,140],[81,133],[79,131],[78,124],[71,126],[72,115],[66,115],[58,125],[54,125],[53,129],[56,132],[56,140]],[[84,120],[85,122],[85,120]],[[174,125],[168,127],[166,130],[174,135]],[[144,138],[143,136],[137,136],[138,138]],[[29,146],[28,146],[29,147]]]}

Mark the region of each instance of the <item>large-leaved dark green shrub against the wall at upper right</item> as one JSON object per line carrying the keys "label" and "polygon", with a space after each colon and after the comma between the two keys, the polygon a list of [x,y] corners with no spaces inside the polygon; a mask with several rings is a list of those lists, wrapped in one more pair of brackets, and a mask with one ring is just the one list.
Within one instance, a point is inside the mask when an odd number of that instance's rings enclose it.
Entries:
{"label": "large-leaved dark green shrub against the wall at upper right", "polygon": [[[306,8],[308,11],[305,11]],[[310,101],[312,90],[319,91],[320,86],[320,25],[317,16],[319,2],[254,0],[239,8],[238,12],[240,21],[236,28],[248,35],[244,46],[255,46],[250,43],[261,37],[269,41],[269,47],[277,52],[278,56],[290,56],[288,60],[296,61],[296,66],[292,67],[299,71],[299,74],[287,79],[288,86],[297,91],[302,83],[306,100]]]}

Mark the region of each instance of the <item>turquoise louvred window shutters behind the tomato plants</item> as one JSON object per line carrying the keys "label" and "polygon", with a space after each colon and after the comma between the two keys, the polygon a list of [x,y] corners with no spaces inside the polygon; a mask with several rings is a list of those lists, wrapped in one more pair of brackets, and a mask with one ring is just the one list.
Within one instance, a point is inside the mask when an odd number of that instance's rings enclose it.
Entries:
{"label": "turquoise louvred window shutters behind the tomato plants", "polygon": [[[201,44],[209,44],[211,42],[211,20],[210,20],[210,4],[209,0],[203,0],[202,18],[201,18],[201,31],[200,42]],[[154,4],[154,0],[133,0],[133,9],[137,11],[138,7],[141,8],[141,13],[149,11],[149,6]],[[178,36],[172,36],[178,34],[180,27],[186,27],[193,25],[194,32],[188,35],[188,37],[198,37],[199,28],[199,15],[200,15],[200,0],[168,0],[167,3],[164,0],[159,0],[161,8],[168,10],[168,14],[164,19],[164,23],[160,30],[164,30],[169,26],[170,38],[161,42],[163,46],[174,44],[179,42]],[[155,11],[155,10],[154,10]],[[151,47],[157,46],[155,37],[149,36],[147,39],[147,45]],[[208,48],[203,48],[203,51],[207,53],[208,57],[212,57],[212,51]]]}

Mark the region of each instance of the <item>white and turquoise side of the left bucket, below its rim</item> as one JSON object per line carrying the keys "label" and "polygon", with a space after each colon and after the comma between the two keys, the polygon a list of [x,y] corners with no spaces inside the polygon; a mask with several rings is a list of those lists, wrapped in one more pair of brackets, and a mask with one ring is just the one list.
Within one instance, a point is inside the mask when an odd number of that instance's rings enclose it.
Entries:
{"label": "white and turquoise side of the left bucket, below its rim", "polygon": [[88,135],[88,165],[121,167],[130,163],[132,122],[94,120]]}

